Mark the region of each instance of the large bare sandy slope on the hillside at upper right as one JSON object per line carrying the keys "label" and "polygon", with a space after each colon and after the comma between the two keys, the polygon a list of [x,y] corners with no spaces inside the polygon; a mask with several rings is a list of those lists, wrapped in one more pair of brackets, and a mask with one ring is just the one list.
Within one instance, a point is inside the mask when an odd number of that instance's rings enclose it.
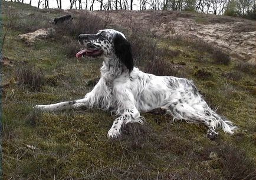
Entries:
{"label": "large bare sandy slope on the hillside at upper right", "polygon": [[[95,11],[102,18],[106,13]],[[256,65],[256,22],[229,16],[176,11],[109,11],[116,25],[139,28],[160,38],[202,39],[233,58]]]}

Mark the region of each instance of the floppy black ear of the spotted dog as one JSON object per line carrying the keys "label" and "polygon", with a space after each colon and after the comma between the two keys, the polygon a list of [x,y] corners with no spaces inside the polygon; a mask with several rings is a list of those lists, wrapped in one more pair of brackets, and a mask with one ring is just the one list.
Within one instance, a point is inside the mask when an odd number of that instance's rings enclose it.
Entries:
{"label": "floppy black ear of the spotted dog", "polygon": [[129,72],[131,72],[133,70],[133,56],[130,43],[120,34],[114,36],[113,42],[117,58],[119,58],[127,69],[129,69]]}

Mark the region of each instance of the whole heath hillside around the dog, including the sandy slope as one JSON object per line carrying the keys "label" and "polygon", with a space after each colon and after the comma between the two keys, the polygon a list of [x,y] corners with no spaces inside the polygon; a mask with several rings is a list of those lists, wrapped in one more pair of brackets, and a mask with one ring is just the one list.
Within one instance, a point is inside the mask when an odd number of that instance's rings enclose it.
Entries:
{"label": "whole heath hillside around the dog, including the sandy slope", "polygon": [[[37,9],[3,2],[2,171],[4,179],[255,179],[255,21],[192,12]],[[72,22],[50,21],[71,14]],[[218,27],[218,29],[216,29]],[[19,35],[50,28],[25,42]],[[77,36],[114,28],[143,71],[192,79],[206,102],[239,127],[214,141],[201,124],[142,114],[119,139],[100,109],[36,112],[37,104],[82,98],[102,59],[77,61]],[[252,60],[251,60],[252,59]]]}

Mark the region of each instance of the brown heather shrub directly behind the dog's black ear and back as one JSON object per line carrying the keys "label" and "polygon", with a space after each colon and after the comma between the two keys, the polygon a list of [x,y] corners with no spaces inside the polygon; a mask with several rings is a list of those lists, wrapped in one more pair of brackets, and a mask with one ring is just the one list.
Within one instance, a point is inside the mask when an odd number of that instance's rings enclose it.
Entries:
{"label": "brown heather shrub directly behind the dog's black ear and back", "polygon": [[132,45],[134,61],[143,71],[155,75],[180,75],[178,66],[168,61],[178,56],[179,50],[169,49],[168,46],[158,48],[156,41],[142,35],[137,29],[133,29],[127,39]]}

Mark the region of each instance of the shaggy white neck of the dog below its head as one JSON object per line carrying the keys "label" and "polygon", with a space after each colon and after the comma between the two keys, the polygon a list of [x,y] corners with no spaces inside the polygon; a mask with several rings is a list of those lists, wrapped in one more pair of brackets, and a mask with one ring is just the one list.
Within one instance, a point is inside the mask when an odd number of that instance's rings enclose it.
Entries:
{"label": "shaggy white neck of the dog below its head", "polygon": [[100,68],[101,78],[108,83],[112,83],[120,75],[129,74],[129,70],[124,67],[118,58],[104,58],[103,66]]}

